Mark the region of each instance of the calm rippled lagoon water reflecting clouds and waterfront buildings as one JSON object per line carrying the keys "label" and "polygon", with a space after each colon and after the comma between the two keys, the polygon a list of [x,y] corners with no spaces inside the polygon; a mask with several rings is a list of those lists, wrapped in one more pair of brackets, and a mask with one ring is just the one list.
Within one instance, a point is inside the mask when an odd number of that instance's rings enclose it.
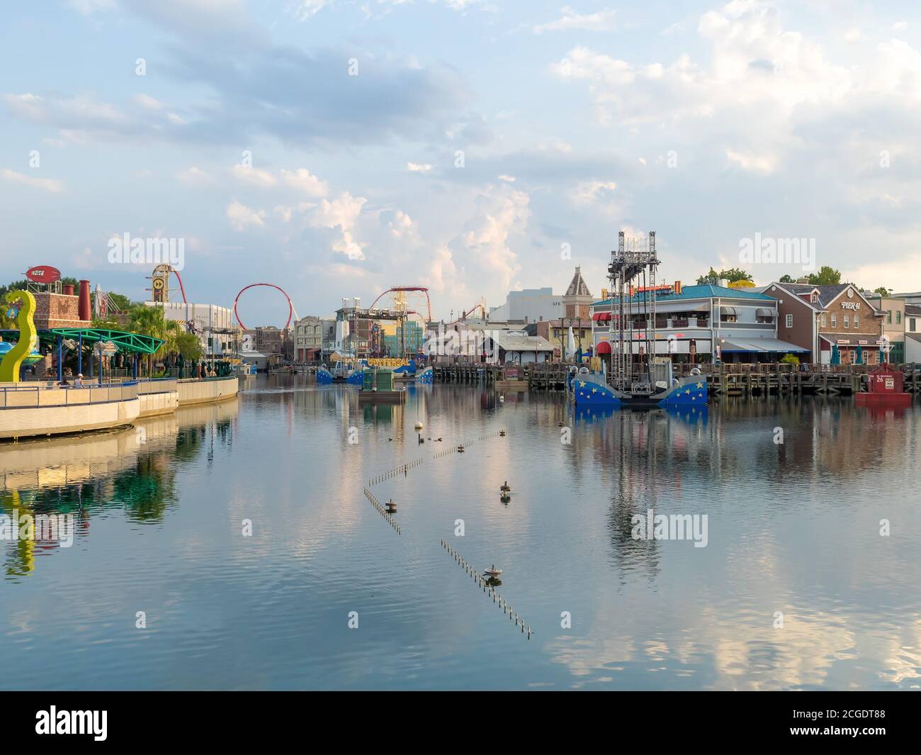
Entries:
{"label": "calm rippled lagoon water reflecting clouds and waterfront buildings", "polygon": [[[77,532],[0,542],[0,688],[918,688],[919,416],[574,415],[467,386],[373,408],[260,377],[143,433],[5,445],[6,513],[74,513]],[[419,445],[417,419],[443,441]],[[398,534],[363,490],[417,458],[371,488]],[[706,514],[706,547],[632,537],[650,507]],[[441,538],[504,570],[530,640]]]}

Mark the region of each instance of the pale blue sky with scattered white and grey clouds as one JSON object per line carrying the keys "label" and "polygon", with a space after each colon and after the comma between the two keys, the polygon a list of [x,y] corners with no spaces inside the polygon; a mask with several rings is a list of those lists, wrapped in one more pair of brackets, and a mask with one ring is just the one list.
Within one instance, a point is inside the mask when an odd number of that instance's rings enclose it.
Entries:
{"label": "pale blue sky with scattered white and grey clouds", "polygon": [[[921,20],[908,2],[33,0],[0,29],[0,279],[297,313],[429,289],[436,317],[606,286],[831,265],[921,289]],[[804,240],[814,259],[740,256]],[[751,246],[749,246],[751,248]],[[382,302],[390,301],[385,298]],[[411,303],[420,303],[411,299]],[[250,289],[251,324],[284,324]]]}

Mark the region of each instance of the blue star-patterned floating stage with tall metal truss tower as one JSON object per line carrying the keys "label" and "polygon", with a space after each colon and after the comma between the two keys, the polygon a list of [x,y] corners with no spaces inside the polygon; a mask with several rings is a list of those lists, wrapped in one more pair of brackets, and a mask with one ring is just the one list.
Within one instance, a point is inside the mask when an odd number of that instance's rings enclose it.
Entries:
{"label": "blue star-patterned floating stage with tall metal truss tower", "polygon": [[[617,250],[608,265],[612,315],[607,343],[611,347],[610,370],[601,362],[600,372],[573,367],[566,386],[579,407],[609,406],[624,408],[701,406],[707,402],[706,377],[693,370],[691,375],[672,374],[668,343],[656,335],[656,231],[648,239],[624,239],[618,234]],[[642,284],[637,286],[636,284]],[[664,351],[657,355],[657,348]]]}

